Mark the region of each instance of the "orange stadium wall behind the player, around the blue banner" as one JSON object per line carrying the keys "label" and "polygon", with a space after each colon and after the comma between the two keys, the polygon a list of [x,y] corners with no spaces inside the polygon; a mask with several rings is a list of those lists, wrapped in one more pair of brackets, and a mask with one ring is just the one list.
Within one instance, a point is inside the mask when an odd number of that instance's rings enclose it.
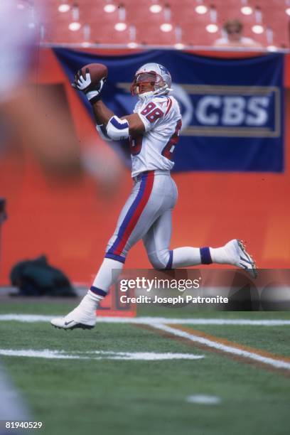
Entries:
{"label": "orange stadium wall behind the player, around the blue banner", "polygon": [[[290,87],[289,67],[288,56],[286,87]],[[97,147],[107,161],[116,158],[98,137],[92,120],[50,49],[39,50],[31,81],[36,86],[62,85],[73,120],[73,134],[80,147]],[[259,267],[289,267],[288,119],[290,98],[286,90],[284,173],[173,175],[179,200],[173,213],[172,247],[218,246],[240,237],[247,242]],[[104,188],[83,171],[65,178],[48,175],[29,147],[20,156],[14,151],[1,156],[0,196],[6,198],[8,219],[1,229],[0,284],[9,283],[9,273],[16,262],[40,254],[46,254],[50,263],[63,269],[73,282],[90,284],[131,188],[129,171],[124,168],[118,171],[119,178]],[[129,253],[126,267],[150,267],[141,243]]]}

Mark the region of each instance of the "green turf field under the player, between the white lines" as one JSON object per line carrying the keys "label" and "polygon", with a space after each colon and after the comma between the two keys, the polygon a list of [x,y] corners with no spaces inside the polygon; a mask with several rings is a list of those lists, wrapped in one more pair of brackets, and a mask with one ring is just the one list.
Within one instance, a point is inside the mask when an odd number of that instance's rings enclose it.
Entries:
{"label": "green turf field under the player, between the white lines", "polygon": [[[2,302],[0,314],[55,315],[73,303]],[[142,316],[149,315],[146,308]],[[182,318],[182,310],[156,316]],[[152,315],[152,312],[150,313]],[[290,319],[286,312],[198,312],[192,318]],[[186,325],[256,350],[289,357],[290,326]],[[60,331],[48,322],[0,321],[1,350],[58,350],[87,359],[2,355],[1,363],[42,434],[288,435],[290,381],[272,370],[199,348],[190,341],[130,323],[100,323],[92,331]],[[94,354],[102,351],[104,354]],[[91,352],[91,353],[90,353]],[[186,353],[196,360],[114,360],[107,353]],[[60,354],[62,355],[62,354]],[[115,355],[115,354],[112,354]],[[111,355],[111,356],[112,356]],[[102,359],[96,359],[102,358]],[[289,360],[290,361],[290,360]],[[290,375],[290,370],[288,370]],[[0,393],[1,394],[1,393]],[[194,394],[218,404],[188,403]],[[0,396],[1,397],[1,396]],[[33,433],[36,432],[36,429]],[[38,433],[38,432],[36,432]]]}

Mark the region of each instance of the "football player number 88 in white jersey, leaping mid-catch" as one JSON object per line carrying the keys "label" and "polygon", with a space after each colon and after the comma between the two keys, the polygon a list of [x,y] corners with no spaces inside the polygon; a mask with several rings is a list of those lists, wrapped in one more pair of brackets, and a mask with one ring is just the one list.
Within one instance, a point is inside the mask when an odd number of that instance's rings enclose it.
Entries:
{"label": "football player number 88 in white jersey, leaping mid-catch", "polygon": [[197,264],[234,264],[256,276],[254,260],[240,240],[223,247],[178,247],[169,249],[171,213],[177,188],[171,178],[173,154],[181,131],[181,112],[172,97],[171,75],[158,63],[137,70],[131,85],[136,95],[134,113],[119,118],[101,100],[104,80],[92,84],[90,71],[80,70],[73,86],[92,103],[97,130],[106,140],[129,139],[131,176],[134,186],[109,240],[102,265],[80,304],[64,318],[53,318],[53,326],[64,329],[93,328],[95,311],[109,287],[122,272],[129,249],[143,240],[152,266],[175,269]]}

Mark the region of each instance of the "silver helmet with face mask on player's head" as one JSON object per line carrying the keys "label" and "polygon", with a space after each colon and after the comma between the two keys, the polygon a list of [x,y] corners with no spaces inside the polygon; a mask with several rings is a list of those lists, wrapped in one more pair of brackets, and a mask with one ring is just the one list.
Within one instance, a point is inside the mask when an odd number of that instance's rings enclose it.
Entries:
{"label": "silver helmet with face mask on player's head", "polygon": [[166,68],[158,63],[147,63],[136,72],[131,84],[131,95],[145,100],[152,95],[167,94],[171,90],[170,85],[171,75]]}

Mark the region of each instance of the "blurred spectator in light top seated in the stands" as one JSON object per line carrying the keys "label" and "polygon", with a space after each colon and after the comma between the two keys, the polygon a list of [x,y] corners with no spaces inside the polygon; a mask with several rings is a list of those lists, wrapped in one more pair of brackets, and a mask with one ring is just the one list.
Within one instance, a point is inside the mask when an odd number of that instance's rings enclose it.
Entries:
{"label": "blurred spectator in light top seated in the stands", "polygon": [[244,47],[244,48],[262,48],[262,45],[252,38],[242,36],[243,25],[239,20],[226,21],[223,30],[225,36],[215,41],[215,47]]}

